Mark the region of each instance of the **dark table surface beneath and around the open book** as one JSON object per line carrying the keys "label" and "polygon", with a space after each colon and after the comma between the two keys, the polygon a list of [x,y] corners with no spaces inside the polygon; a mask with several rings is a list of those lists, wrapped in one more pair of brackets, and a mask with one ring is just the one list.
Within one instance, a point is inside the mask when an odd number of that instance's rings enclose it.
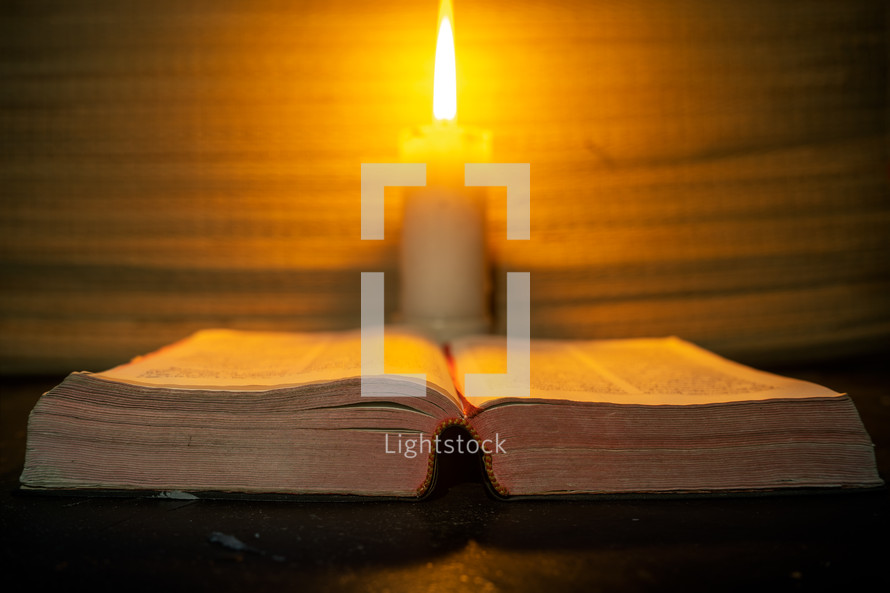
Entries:
{"label": "dark table surface beneath and around the open book", "polygon": [[[769,369],[850,393],[890,478],[890,360]],[[423,502],[173,501],[17,491],[28,411],[59,377],[2,383],[7,581],[221,591],[853,590],[890,584],[890,491],[490,499],[445,457]]]}

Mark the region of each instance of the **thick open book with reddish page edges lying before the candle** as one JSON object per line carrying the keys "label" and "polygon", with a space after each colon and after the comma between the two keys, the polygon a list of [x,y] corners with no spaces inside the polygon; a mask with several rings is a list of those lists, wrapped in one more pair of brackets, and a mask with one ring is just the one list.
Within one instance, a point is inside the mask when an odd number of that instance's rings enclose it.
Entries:
{"label": "thick open book with reddish page edges lying before the candle", "polygon": [[506,371],[503,337],[446,354],[388,328],[386,372],[425,397],[389,375],[362,397],[360,352],[357,331],[207,330],[73,373],[31,413],[22,487],[420,498],[437,450],[478,451],[503,497],[882,484],[849,397],[677,338],[533,340],[527,398],[462,394]]}

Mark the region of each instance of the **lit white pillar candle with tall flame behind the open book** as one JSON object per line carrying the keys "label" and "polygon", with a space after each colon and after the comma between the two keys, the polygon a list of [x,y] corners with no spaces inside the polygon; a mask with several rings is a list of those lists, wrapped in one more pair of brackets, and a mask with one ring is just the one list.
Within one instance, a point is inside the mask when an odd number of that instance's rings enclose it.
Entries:
{"label": "lit white pillar candle with tall flame behind the open book", "polygon": [[489,329],[484,188],[464,186],[464,164],[491,160],[491,134],[457,124],[453,13],[439,8],[433,123],[408,130],[403,162],[426,164],[426,186],[406,188],[400,253],[401,321],[440,341]]}

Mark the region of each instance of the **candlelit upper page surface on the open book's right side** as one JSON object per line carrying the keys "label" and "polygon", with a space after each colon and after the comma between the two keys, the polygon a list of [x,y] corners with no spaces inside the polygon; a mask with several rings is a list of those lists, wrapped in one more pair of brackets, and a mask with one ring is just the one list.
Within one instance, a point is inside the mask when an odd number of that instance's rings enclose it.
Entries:
{"label": "candlelit upper page surface on the open book's right side", "polygon": [[[461,392],[465,373],[506,372],[505,344],[503,337],[495,336],[452,344]],[[679,338],[532,340],[531,344],[533,399],[688,405],[838,395],[813,383],[731,362]],[[505,401],[468,399],[477,407]]]}

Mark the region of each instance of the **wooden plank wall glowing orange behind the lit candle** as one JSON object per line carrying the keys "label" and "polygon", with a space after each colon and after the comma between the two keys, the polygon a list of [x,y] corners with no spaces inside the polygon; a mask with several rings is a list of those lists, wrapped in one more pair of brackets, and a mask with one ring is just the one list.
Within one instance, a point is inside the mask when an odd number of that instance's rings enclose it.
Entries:
{"label": "wooden plank wall glowing orange behind the lit candle", "polygon": [[[536,336],[676,334],[747,361],[890,337],[882,0],[456,0],[462,123],[528,162]],[[2,370],[101,370],[202,327],[396,307],[363,162],[430,119],[435,0],[0,8]]]}

